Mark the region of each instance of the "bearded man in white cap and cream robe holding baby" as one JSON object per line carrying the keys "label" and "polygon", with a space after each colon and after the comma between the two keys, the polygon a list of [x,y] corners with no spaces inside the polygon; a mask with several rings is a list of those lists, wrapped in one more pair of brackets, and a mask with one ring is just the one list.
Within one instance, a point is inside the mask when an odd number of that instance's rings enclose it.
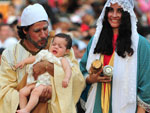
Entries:
{"label": "bearded man in white cap and cream robe holding baby", "polygon": [[[41,49],[47,47],[48,26],[47,13],[40,4],[29,5],[23,10],[21,15],[21,26],[18,26],[18,34],[21,41],[12,48],[6,49],[2,55],[0,71],[1,113],[16,113],[19,104],[18,91],[26,84],[28,65],[23,69],[17,70],[14,68],[14,65],[29,56],[36,55]],[[68,105],[66,105],[63,100],[65,98],[70,99],[69,105],[77,103],[82,89],[84,88],[84,78],[72,51],[70,52],[69,58],[74,63],[74,67],[72,68],[73,76],[70,83],[72,84],[72,90],[68,89],[73,95],[73,99],[67,98],[68,95],[64,93],[62,88],[57,86],[58,83],[55,81],[55,79],[58,79],[57,76],[59,76],[60,73],[64,73],[61,67],[48,61],[42,61],[34,65],[33,72],[35,79],[39,74],[46,71],[54,76],[51,78],[53,81],[52,86],[45,86],[45,90],[42,92],[40,98],[41,102],[47,103],[49,99],[51,99],[51,101],[48,106],[46,106],[45,103],[40,103],[39,106],[33,110],[34,113],[66,113],[68,110],[65,109],[65,106]],[[61,79],[59,81],[61,81]],[[53,87],[56,87],[56,90],[54,90]],[[60,101],[58,101],[58,99]],[[74,112],[76,111],[72,113]]]}

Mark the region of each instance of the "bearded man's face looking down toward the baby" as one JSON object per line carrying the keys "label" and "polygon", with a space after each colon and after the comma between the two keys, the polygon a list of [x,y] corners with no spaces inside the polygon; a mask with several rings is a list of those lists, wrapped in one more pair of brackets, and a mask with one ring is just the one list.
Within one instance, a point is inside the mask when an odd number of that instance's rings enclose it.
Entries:
{"label": "bearded man's face looking down toward the baby", "polygon": [[37,22],[29,28],[27,39],[31,38],[39,47],[44,47],[47,43],[48,23],[46,21]]}

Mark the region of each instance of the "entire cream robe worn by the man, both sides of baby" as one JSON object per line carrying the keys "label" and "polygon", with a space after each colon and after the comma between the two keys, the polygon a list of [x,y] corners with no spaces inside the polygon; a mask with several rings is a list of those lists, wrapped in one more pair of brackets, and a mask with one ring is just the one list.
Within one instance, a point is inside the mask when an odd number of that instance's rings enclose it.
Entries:
{"label": "entire cream robe worn by the man, both sides of baby", "polygon": [[[17,70],[13,66],[29,56],[31,54],[19,43],[3,52],[0,71],[0,113],[16,112],[19,104],[19,93],[16,87],[25,75],[28,66]],[[85,80],[73,51],[69,58],[75,66],[72,68],[72,78],[68,88],[62,88],[60,85],[63,77],[59,74],[64,74],[63,69],[54,65],[54,77],[51,77],[52,98],[48,105],[49,113],[76,113],[75,105],[85,87]]]}

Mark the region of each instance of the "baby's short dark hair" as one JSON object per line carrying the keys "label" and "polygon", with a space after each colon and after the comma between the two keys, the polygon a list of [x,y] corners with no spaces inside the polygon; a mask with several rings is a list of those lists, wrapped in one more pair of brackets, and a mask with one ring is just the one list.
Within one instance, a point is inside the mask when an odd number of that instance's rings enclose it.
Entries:
{"label": "baby's short dark hair", "polygon": [[55,37],[64,38],[67,41],[67,49],[71,49],[71,47],[72,47],[72,39],[71,39],[70,35],[67,35],[65,33],[58,33],[58,34],[55,35]]}

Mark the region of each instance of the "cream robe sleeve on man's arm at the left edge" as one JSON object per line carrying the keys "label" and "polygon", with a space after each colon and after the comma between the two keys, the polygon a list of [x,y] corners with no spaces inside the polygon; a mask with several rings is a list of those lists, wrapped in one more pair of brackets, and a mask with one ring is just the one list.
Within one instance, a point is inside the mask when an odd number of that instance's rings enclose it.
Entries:
{"label": "cream robe sleeve on man's arm at the left edge", "polygon": [[[0,68],[0,112],[16,113],[19,103],[19,93],[17,87],[17,75],[13,66],[8,63],[8,55],[11,53],[7,50],[3,52]],[[13,59],[13,56],[11,56]]]}

